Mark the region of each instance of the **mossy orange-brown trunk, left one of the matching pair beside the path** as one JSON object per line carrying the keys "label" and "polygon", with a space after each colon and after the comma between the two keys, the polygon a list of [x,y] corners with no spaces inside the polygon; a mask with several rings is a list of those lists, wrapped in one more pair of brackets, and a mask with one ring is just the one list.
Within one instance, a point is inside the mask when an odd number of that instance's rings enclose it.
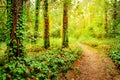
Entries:
{"label": "mossy orange-brown trunk, left one of the matching pair beside the path", "polygon": [[48,0],[44,0],[44,48],[50,47]]}

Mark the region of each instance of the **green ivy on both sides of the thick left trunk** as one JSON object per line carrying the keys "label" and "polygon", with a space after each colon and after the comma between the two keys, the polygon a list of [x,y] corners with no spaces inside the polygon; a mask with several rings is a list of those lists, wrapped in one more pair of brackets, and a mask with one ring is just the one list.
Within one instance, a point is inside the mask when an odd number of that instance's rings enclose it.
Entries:
{"label": "green ivy on both sides of the thick left trunk", "polygon": [[[12,12],[12,2],[10,0],[7,1],[7,22],[6,22],[6,28],[7,28],[7,39],[6,39],[6,44],[7,44],[7,51],[6,53],[9,53],[8,57],[13,57],[13,56],[18,56],[17,52],[19,50],[20,52],[20,56],[24,56],[25,52],[24,52],[24,34],[25,34],[25,22],[26,22],[26,7],[25,5],[20,6],[20,9],[18,11],[18,20],[17,20],[17,25],[15,26],[16,30],[12,30],[13,28],[13,21],[12,18],[13,17],[13,12]],[[12,33],[14,33],[14,40],[13,40],[13,35],[11,35]],[[18,49],[19,48],[19,49]],[[22,53],[22,54],[21,54]]]}

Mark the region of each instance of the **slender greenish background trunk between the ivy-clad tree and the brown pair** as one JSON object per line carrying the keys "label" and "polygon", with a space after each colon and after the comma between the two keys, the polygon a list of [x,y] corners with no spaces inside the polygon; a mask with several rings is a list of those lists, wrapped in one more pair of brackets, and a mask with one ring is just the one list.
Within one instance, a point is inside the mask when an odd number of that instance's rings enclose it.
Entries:
{"label": "slender greenish background trunk between the ivy-clad tree and the brown pair", "polygon": [[41,0],[36,0],[36,12],[35,12],[36,20],[35,20],[35,27],[34,27],[34,30],[35,30],[35,33],[34,33],[35,42],[36,42],[36,39],[38,37],[37,32],[38,32],[38,27],[39,27],[40,1]]}

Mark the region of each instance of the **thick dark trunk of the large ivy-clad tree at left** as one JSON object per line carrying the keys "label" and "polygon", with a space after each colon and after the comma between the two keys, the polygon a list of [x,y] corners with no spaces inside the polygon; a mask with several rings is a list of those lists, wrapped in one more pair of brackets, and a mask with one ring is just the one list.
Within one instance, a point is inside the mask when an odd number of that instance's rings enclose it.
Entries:
{"label": "thick dark trunk of the large ivy-clad tree at left", "polygon": [[[7,25],[11,26],[11,28],[9,28],[11,30],[10,52],[17,57],[20,56],[20,53],[22,53],[21,50],[22,33],[19,30],[22,28],[22,26],[20,26],[22,25],[22,20],[20,18],[22,17],[23,0],[8,0],[8,1],[11,3],[11,8],[9,8],[9,6],[7,7],[7,12],[9,13],[9,9],[11,11],[10,16],[7,16],[7,19],[11,21],[11,23]],[[13,55],[11,55],[11,57]]]}

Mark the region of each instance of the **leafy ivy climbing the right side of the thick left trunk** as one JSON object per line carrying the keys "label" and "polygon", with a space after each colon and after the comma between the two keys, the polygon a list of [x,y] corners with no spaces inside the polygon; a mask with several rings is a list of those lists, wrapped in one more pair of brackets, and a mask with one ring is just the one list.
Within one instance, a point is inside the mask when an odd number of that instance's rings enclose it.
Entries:
{"label": "leafy ivy climbing the right side of the thick left trunk", "polygon": [[[22,2],[23,3],[23,2]],[[20,49],[20,56],[25,56],[25,51],[24,51],[24,39],[25,39],[25,11],[26,10],[26,6],[23,4],[23,6],[21,7],[21,10],[19,12],[19,20],[18,20],[18,25],[16,26],[16,36],[18,39],[18,43],[19,43],[19,49]]]}

